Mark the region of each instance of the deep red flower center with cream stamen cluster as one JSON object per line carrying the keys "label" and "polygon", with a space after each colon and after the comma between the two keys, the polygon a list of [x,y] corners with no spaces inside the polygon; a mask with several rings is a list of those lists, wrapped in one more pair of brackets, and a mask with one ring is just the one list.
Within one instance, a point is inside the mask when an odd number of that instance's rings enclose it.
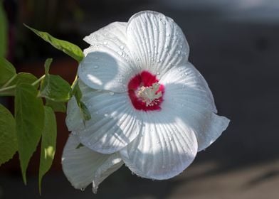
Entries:
{"label": "deep red flower center with cream stamen cluster", "polygon": [[142,71],[132,77],[128,93],[135,109],[143,111],[160,110],[163,102],[164,85],[160,85],[155,75]]}

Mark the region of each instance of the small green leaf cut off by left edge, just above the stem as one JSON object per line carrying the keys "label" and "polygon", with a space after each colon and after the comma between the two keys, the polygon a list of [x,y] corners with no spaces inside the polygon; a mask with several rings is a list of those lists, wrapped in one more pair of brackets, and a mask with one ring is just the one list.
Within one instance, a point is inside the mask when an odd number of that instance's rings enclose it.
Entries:
{"label": "small green leaf cut off by left edge, just above the stem", "polygon": [[13,78],[14,75],[16,75],[16,69],[14,68],[14,65],[9,63],[9,61],[5,58],[2,58],[0,55],[0,87],[3,87],[7,82],[9,82],[9,80]]}

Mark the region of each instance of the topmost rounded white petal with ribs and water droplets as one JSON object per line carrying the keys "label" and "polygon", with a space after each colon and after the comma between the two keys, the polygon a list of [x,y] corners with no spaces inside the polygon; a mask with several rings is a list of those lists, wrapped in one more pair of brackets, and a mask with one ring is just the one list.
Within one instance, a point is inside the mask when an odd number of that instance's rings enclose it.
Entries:
{"label": "topmost rounded white petal with ribs and water droplets", "polygon": [[153,74],[185,63],[189,45],[172,18],[154,11],[132,16],[127,25],[127,45],[135,63]]}

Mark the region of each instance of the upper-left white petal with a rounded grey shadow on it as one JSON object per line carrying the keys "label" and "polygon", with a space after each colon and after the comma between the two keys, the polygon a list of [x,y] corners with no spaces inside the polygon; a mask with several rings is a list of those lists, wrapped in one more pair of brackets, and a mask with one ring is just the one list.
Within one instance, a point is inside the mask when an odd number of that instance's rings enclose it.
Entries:
{"label": "upper-left white petal with a rounded grey shadow on it", "polygon": [[110,23],[85,37],[91,46],[84,50],[78,75],[89,87],[113,92],[127,90],[127,82],[137,71],[132,68],[126,45],[126,26],[127,23]]}

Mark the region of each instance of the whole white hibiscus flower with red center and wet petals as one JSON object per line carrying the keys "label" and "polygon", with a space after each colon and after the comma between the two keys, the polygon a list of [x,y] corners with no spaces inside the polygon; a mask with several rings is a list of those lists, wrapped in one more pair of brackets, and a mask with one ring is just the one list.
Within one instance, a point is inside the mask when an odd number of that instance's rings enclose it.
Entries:
{"label": "whole white hibiscus flower with red center and wet petals", "polygon": [[62,159],[75,188],[93,182],[95,192],[123,163],[143,178],[177,176],[228,126],[172,18],[142,11],[84,40],[78,77],[92,118],[70,99]]}

